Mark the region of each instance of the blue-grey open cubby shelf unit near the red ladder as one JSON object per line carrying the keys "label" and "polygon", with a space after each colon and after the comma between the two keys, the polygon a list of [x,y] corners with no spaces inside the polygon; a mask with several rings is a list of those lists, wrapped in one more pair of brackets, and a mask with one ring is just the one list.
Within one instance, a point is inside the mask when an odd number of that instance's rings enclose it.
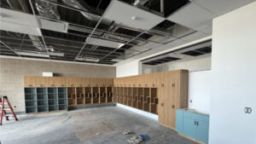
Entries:
{"label": "blue-grey open cubby shelf unit near the red ladder", "polygon": [[25,88],[26,113],[67,110],[67,88]]}

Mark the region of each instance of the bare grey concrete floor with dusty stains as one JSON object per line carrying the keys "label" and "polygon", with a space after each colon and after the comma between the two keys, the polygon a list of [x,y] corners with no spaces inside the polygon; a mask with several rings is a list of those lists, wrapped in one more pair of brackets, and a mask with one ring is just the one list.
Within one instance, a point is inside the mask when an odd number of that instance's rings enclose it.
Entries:
{"label": "bare grey concrete floor with dusty stains", "polygon": [[[19,121],[0,126],[2,144],[128,144],[132,135],[148,135],[153,144],[196,144],[156,121],[120,107],[20,115]],[[1,143],[0,142],[0,143]]]}

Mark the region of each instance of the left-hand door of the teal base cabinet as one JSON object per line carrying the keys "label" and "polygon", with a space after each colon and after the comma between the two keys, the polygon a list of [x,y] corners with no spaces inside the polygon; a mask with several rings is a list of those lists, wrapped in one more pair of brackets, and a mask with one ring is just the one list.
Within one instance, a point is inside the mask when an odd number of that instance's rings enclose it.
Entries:
{"label": "left-hand door of the teal base cabinet", "polygon": [[195,119],[193,118],[183,118],[183,134],[189,137],[195,138]]}

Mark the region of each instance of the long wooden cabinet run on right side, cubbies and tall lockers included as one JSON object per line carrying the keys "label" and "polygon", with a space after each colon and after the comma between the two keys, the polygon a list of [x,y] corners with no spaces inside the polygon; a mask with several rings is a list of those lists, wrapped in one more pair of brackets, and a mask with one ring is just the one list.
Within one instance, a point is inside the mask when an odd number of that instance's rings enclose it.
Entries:
{"label": "long wooden cabinet run on right side, cubbies and tall lockers included", "polygon": [[[143,111],[157,113],[160,124],[175,129],[176,109],[188,106],[188,76],[187,70],[177,70],[115,78],[113,84],[120,90],[114,99]],[[125,95],[127,87],[136,88],[132,89],[131,98]],[[153,88],[155,97],[151,96]]]}

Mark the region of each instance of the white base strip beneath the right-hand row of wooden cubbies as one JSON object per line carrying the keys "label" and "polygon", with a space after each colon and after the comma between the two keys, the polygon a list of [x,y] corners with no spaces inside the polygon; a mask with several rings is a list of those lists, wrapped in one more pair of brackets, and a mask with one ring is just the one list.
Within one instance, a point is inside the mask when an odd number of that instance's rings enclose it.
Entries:
{"label": "white base strip beneath the right-hand row of wooden cubbies", "polygon": [[150,112],[145,112],[145,111],[139,110],[137,108],[133,108],[133,107],[128,107],[128,106],[125,106],[125,105],[122,105],[122,104],[119,104],[119,103],[117,103],[116,106],[125,108],[126,110],[129,110],[131,112],[136,112],[136,113],[141,114],[145,117],[152,118],[152,119],[158,121],[158,115],[156,115],[156,114],[153,114],[153,113],[150,113]]}

